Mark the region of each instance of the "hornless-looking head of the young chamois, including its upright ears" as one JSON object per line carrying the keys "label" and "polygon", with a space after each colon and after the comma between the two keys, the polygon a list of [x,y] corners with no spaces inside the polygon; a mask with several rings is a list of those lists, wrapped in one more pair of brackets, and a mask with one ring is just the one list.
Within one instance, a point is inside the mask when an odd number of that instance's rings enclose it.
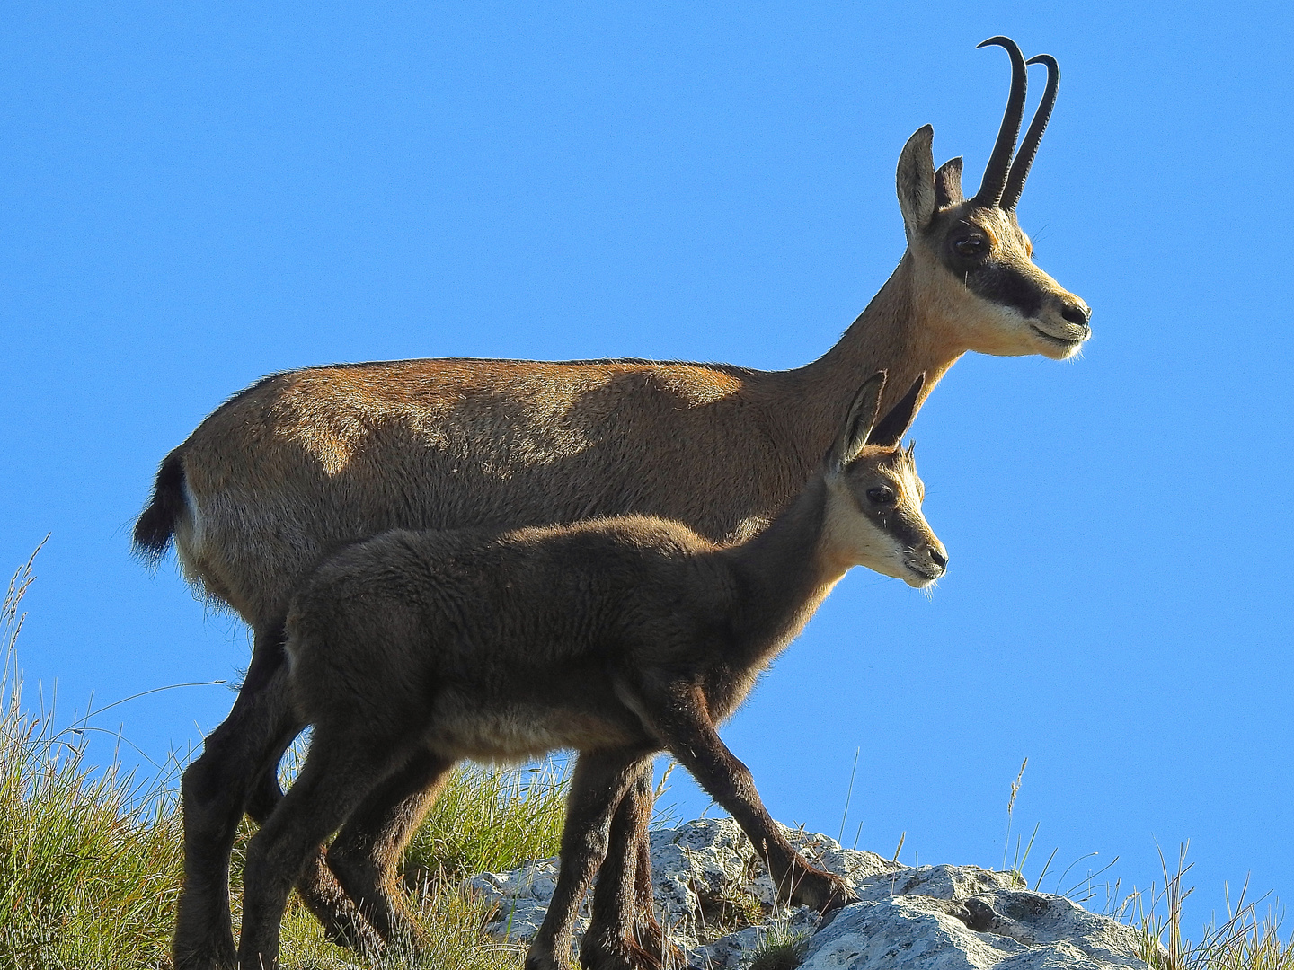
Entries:
{"label": "hornless-looking head of the young chamois, including its upright ears", "polygon": [[921,396],[925,375],[877,420],[885,371],[859,388],[827,453],[826,544],[837,568],[864,565],[908,586],[929,586],[949,565],[943,543],[921,515],[925,485],[912,447],[899,445]]}

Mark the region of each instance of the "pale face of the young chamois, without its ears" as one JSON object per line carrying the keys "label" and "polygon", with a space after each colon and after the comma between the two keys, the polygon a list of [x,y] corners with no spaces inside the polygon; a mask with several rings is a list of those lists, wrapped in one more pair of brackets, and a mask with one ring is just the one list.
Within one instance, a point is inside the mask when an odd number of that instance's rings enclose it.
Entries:
{"label": "pale face of the young chamois, without its ears", "polygon": [[947,551],[921,515],[925,486],[911,453],[864,447],[827,477],[827,546],[840,565],[863,565],[916,588],[943,576]]}

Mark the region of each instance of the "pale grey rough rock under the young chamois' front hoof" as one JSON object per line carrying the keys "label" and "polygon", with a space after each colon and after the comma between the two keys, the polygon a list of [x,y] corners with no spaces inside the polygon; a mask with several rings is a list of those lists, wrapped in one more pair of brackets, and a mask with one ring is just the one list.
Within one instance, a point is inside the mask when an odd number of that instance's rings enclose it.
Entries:
{"label": "pale grey rough rock under the young chamois' front hoof", "polygon": [[[656,911],[695,967],[744,970],[771,943],[796,942],[801,970],[1106,970],[1139,967],[1140,936],[1064,896],[1029,892],[1017,876],[973,865],[902,867],[785,829],[817,865],[844,877],[861,901],[819,921],[775,904],[773,882],[731,819],[703,819],[651,835]],[[497,905],[487,930],[528,940],[543,921],[556,859],[470,885]],[[578,930],[587,926],[587,903]]]}

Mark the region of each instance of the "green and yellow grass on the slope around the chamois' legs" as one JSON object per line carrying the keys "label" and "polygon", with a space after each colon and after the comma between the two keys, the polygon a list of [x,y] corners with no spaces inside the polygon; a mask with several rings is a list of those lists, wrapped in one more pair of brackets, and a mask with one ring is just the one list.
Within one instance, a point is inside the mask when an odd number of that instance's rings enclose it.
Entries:
{"label": "green and yellow grass on the slope around the chamois' legs", "polygon": [[[52,713],[23,711],[13,647],[30,566],[18,572],[0,607],[6,657],[0,676],[0,970],[168,967],[182,869],[175,773],[141,789],[113,766],[92,770],[84,763],[85,732],[57,729]],[[454,776],[408,856],[408,881],[436,947],[419,966],[520,970],[521,948],[481,934],[487,913],[459,889],[461,879],[556,855],[563,803],[563,779],[549,771],[468,768]],[[250,834],[248,828],[239,833],[234,851],[236,900]],[[1179,864],[1172,877],[1166,867],[1168,889],[1144,898],[1136,917],[1157,969],[1294,970],[1294,943],[1282,943],[1277,927],[1259,922],[1251,908],[1205,944],[1184,943],[1175,920],[1183,872]],[[282,948],[291,967],[355,965],[353,954],[322,939],[295,900]]]}

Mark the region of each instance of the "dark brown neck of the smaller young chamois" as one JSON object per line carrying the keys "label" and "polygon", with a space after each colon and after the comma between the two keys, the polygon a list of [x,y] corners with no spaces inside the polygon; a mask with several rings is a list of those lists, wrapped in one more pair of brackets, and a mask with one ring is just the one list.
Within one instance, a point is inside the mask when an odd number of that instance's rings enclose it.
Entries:
{"label": "dark brown neck of the smaller young chamois", "polygon": [[829,490],[815,475],[758,535],[723,550],[738,574],[734,632],[744,660],[778,653],[849,569],[826,535]]}

